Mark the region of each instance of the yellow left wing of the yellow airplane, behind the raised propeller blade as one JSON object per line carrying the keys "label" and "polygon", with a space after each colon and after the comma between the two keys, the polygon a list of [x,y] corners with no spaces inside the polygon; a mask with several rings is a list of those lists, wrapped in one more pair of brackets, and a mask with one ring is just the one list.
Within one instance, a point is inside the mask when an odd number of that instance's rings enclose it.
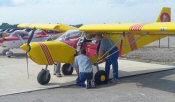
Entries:
{"label": "yellow left wing of the yellow airplane, behind the raised propeller blade", "polygon": [[76,30],[76,27],[68,26],[65,24],[30,24],[30,23],[24,23],[19,24],[18,28],[36,28],[36,29],[42,29],[42,30],[55,30],[55,31],[67,31],[67,30]]}

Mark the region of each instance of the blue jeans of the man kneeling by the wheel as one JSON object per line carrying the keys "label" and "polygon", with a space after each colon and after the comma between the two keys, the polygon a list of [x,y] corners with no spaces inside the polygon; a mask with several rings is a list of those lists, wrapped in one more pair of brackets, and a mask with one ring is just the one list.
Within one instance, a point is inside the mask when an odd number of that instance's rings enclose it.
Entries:
{"label": "blue jeans of the man kneeling by the wheel", "polygon": [[85,81],[92,80],[93,78],[93,73],[80,73],[77,78],[77,85],[86,87]]}

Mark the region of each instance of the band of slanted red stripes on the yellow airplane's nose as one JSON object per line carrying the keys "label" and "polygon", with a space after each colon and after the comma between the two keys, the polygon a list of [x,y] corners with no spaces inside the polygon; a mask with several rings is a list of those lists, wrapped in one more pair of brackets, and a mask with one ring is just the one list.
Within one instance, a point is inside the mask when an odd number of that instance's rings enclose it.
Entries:
{"label": "band of slanted red stripes on the yellow airplane's nose", "polygon": [[48,64],[49,65],[54,64],[53,58],[50,54],[48,47],[44,43],[38,43],[38,44],[40,45],[40,47],[45,55],[45,58],[47,59]]}

